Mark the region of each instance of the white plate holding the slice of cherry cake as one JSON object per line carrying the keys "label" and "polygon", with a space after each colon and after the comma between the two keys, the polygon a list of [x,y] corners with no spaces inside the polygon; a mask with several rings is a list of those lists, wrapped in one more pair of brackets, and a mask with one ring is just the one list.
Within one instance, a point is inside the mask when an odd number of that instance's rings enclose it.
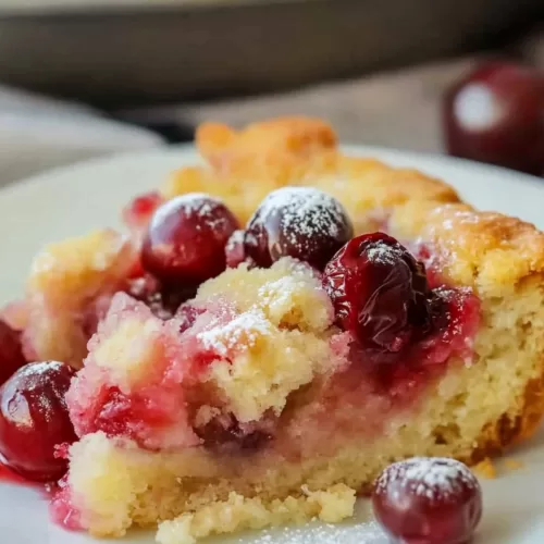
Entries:
{"label": "white plate holding the slice of cherry cake", "polygon": [[[418,168],[454,185],[482,209],[519,215],[544,227],[544,181],[500,169],[443,157],[350,147],[357,154]],[[189,147],[94,161],[50,172],[0,191],[0,304],[21,295],[33,255],[48,242],[104,225],[120,226],[119,211],[128,199],[160,184],[172,170],[198,160]],[[544,432],[512,452],[523,468],[484,481],[481,544],[544,542]],[[360,505],[357,522],[311,526],[246,536],[220,537],[224,544],[383,544]],[[30,490],[0,483],[0,542],[3,544],[89,544],[88,536],[64,532],[48,522],[47,507]],[[101,541],[103,542],[103,541]],[[125,544],[151,543],[152,534],[132,533]]]}

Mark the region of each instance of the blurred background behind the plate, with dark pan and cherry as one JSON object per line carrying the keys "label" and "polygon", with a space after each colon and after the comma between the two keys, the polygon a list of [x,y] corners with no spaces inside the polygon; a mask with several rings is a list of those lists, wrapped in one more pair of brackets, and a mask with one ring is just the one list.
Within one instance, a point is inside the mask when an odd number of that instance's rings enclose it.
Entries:
{"label": "blurred background behind the plate, with dark pan and cherry", "polygon": [[543,24],[544,0],[0,0],[0,183],[282,114],[542,174]]}

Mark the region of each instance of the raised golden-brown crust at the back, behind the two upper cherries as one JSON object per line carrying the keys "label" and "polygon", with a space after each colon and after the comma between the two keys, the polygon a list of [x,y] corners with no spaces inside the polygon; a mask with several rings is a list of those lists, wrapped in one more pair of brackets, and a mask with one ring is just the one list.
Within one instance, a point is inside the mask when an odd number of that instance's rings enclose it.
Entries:
{"label": "raised golden-brown crust at the back, behind the two upper cherries", "polygon": [[285,185],[327,190],[346,206],[356,223],[358,218],[364,223],[369,211],[412,200],[459,201],[452,187],[416,170],[343,156],[331,127],[318,120],[286,118],[238,133],[205,124],[197,132],[197,146],[209,165],[175,172],[161,193],[166,198],[188,191],[217,194],[242,223],[268,193]]}

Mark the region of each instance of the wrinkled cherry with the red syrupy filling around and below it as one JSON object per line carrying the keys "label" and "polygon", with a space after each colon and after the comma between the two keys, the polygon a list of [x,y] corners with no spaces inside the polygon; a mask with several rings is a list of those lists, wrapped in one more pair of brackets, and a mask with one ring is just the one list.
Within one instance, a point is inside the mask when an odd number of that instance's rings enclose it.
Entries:
{"label": "wrinkled cherry with the red syrupy filling around and below it", "polygon": [[470,363],[480,300],[448,286],[436,264],[432,248],[410,251],[383,233],[354,238],[327,264],[323,286],[350,338],[351,364],[333,378],[325,411],[361,401],[376,410],[361,422],[335,418],[335,426],[380,433],[387,412],[417,403],[452,357]]}

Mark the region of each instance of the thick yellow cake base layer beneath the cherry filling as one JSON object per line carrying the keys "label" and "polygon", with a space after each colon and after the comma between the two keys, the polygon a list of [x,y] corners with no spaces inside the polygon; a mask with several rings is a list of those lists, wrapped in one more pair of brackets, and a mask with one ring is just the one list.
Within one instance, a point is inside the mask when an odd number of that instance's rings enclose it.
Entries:
{"label": "thick yellow cake base layer beneath the cherry filling", "polygon": [[[225,455],[203,446],[153,453],[89,434],[71,448],[72,505],[94,534],[121,535],[133,523],[222,503],[233,491],[267,503],[300,497],[302,486],[364,491],[390,462],[413,455],[479,461],[527,437],[544,410],[543,304],[536,277],[503,299],[483,299],[473,362],[449,360],[445,373],[399,409],[387,409],[376,395],[359,405],[338,398],[334,410],[321,415],[322,425],[320,417],[307,416],[320,413],[320,397],[293,397],[274,442],[255,453]],[[364,383],[356,387],[364,394]],[[339,420],[354,421],[353,428],[336,425]]]}

